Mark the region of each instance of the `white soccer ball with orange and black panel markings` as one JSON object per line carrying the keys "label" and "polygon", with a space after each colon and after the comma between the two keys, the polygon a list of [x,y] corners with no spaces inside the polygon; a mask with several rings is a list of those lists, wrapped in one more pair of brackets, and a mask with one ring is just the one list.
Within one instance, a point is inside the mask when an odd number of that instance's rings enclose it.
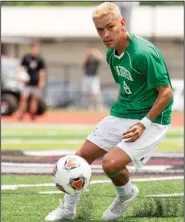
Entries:
{"label": "white soccer ball with orange and black panel markings", "polygon": [[85,190],[91,180],[91,167],[77,155],[67,155],[58,160],[53,169],[53,180],[59,190],[75,194]]}

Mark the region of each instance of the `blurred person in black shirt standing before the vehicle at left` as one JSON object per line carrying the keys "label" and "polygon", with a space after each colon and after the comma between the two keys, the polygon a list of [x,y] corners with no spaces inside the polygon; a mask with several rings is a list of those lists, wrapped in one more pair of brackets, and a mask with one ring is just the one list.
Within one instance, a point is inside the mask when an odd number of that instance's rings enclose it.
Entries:
{"label": "blurred person in black shirt standing before the vehicle at left", "polygon": [[45,87],[46,81],[45,62],[40,56],[40,43],[38,41],[32,42],[30,53],[23,56],[16,73],[18,79],[23,71],[28,73],[29,81],[22,91],[18,119],[23,119],[27,110],[28,99],[31,96],[29,114],[31,119],[34,120],[38,109],[38,101],[42,94],[41,89]]}

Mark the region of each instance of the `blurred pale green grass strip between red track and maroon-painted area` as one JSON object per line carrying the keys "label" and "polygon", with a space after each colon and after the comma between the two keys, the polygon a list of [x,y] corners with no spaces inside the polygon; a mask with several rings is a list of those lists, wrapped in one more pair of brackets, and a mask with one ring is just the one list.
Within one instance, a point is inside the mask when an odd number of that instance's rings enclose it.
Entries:
{"label": "blurred pale green grass strip between red track and maroon-painted area", "polygon": [[[93,130],[90,126],[3,125],[2,150],[77,149]],[[183,151],[183,128],[170,128],[158,151]]]}

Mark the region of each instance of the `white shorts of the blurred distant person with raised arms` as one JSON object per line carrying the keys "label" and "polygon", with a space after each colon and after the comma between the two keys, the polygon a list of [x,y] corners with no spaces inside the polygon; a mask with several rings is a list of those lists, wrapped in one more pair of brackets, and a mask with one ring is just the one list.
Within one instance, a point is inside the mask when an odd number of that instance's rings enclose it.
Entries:
{"label": "white shorts of the blurred distant person with raised arms", "polygon": [[83,93],[100,93],[100,78],[97,76],[84,76],[82,81]]}

